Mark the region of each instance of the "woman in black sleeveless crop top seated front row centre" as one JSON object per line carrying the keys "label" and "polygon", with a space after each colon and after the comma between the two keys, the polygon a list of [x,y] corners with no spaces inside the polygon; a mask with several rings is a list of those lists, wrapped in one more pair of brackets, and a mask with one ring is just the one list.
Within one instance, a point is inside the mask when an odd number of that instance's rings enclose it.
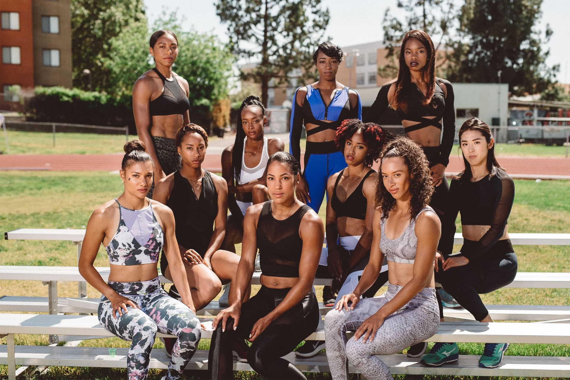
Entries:
{"label": "woman in black sleeveless crop top seated front row centre", "polygon": [[[268,379],[306,379],[283,359],[319,325],[319,305],[312,283],[323,247],[323,222],[295,199],[299,162],[277,152],[267,162],[271,201],[250,206],[243,220],[242,255],[230,307],[214,319],[208,356],[212,379],[233,378],[231,347],[237,339],[252,342],[250,366]],[[257,295],[242,303],[254,271],[257,249],[262,275]]]}

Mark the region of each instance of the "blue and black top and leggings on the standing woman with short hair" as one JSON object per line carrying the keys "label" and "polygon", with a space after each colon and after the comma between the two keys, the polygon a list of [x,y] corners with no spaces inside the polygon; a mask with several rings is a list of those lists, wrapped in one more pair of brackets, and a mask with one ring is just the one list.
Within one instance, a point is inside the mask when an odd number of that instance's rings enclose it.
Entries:
{"label": "blue and black top and leggings on the standing woman with short hair", "polygon": [[[293,96],[289,151],[300,161],[301,149],[299,144],[303,125],[316,125],[307,130],[307,137],[327,129],[336,130],[344,120],[362,119],[362,104],[360,103],[360,95],[356,93],[358,104],[351,107],[348,96],[349,88],[344,87],[341,90],[336,90],[331,103],[325,105],[319,89],[307,85],[307,96],[303,107],[301,107],[296,101],[299,88]],[[307,141],[304,165],[303,176],[307,181],[309,197],[311,198],[311,202],[308,202],[307,205],[318,213],[327,190],[328,177],[347,167],[347,163],[344,161],[343,152],[336,148],[335,141]]]}

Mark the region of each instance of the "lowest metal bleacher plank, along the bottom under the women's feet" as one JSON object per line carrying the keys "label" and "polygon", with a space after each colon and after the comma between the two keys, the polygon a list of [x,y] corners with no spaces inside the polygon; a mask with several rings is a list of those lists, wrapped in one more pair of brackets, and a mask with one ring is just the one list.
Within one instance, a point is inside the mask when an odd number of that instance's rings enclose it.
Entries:
{"label": "lowest metal bleacher plank, along the bottom under the women's feet", "polygon": [[[117,348],[114,358],[109,357],[107,348],[92,347],[56,347],[56,346],[15,346],[16,365],[29,366],[86,366],[90,367],[126,367],[127,348]],[[508,353],[508,352],[507,352]],[[186,370],[207,369],[208,352],[198,350]],[[325,353],[312,358],[300,358],[293,353],[284,356],[293,365],[306,372],[329,372]],[[478,366],[479,356],[462,355],[458,362],[438,368],[424,367],[418,359],[404,354],[382,356],[393,374],[438,374],[438,375],[474,375],[474,376],[524,376],[524,377],[564,377],[570,373],[568,357],[527,357],[505,356],[503,364],[495,369],[484,369]],[[164,349],[154,349],[150,357],[149,367],[166,369],[169,358]],[[0,364],[6,364],[6,346],[0,346]],[[234,362],[234,370],[251,371],[248,363]],[[357,373],[349,364],[349,371]]]}

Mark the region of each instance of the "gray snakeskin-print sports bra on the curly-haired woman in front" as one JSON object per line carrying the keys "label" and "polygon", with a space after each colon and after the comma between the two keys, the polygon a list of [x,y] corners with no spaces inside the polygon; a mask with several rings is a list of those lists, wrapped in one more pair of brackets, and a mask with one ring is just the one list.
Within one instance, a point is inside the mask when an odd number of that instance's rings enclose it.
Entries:
{"label": "gray snakeskin-print sports bra on the curly-haired woman in front", "polygon": [[426,206],[424,209],[421,209],[418,215],[416,215],[416,218],[410,220],[410,224],[408,224],[408,227],[406,227],[404,232],[402,232],[402,235],[396,239],[388,239],[386,237],[386,234],[384,233],[386,218],[380,219],[380,229],[382,231],[382,235],[380,237],[380,251],[386,255],[386,259],[388,259],[388,261],[404,264],[414,263],[414,259],[416,259],[416,249],[418,247],[418,238],[414,228],[416,227],[418,216],[420,216],[424,211],[435,213],[430,206]]}

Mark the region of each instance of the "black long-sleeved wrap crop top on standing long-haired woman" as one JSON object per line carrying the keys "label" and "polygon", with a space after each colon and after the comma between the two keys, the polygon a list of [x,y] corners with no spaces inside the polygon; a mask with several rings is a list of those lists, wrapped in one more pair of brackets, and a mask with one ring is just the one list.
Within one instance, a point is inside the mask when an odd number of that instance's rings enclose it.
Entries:
{"label": "black long-sleeved wrap crop top on standing long-haired woman", "polygon": [[[393,83],[393,81],[390,81],[380,88],[378,96],[376,96],[376,100],[374,100],[374,103],[370,107],[366,117],[364,117],[364,122],[378,123],[380,121],[380,116],[382,116],[382,113],[384,113],[385,109],[389,106],[388,91]],[[445,84],[447,97],[445,97],[445,94],[443,93],[441,84]],[[409,120],[420,123],[404,128],[406,133],[426,128],[430,125],[442,129],[443,132],[439,148],[439,160],[437,163],[447,166],[447,164],[449,164],[449,154],[451,153],[451,148],[453,148],[453,140],[455,138],[455,95],[453,93],[453,86],[445,79],[435,78],[434,94],[431,98],[430,104],[424,106],[422,104],[423,99],[424,94],[415,84],[412,83],[412,85],[410,85],[410,93],[408,95],[408,111],[402,112],[401,110],[396,110],[398,117],[400,118],[400,121]],[[435,119],[426,119],[422,116],[435,116]],[[441,123],[442,119],[443,125]]]}

